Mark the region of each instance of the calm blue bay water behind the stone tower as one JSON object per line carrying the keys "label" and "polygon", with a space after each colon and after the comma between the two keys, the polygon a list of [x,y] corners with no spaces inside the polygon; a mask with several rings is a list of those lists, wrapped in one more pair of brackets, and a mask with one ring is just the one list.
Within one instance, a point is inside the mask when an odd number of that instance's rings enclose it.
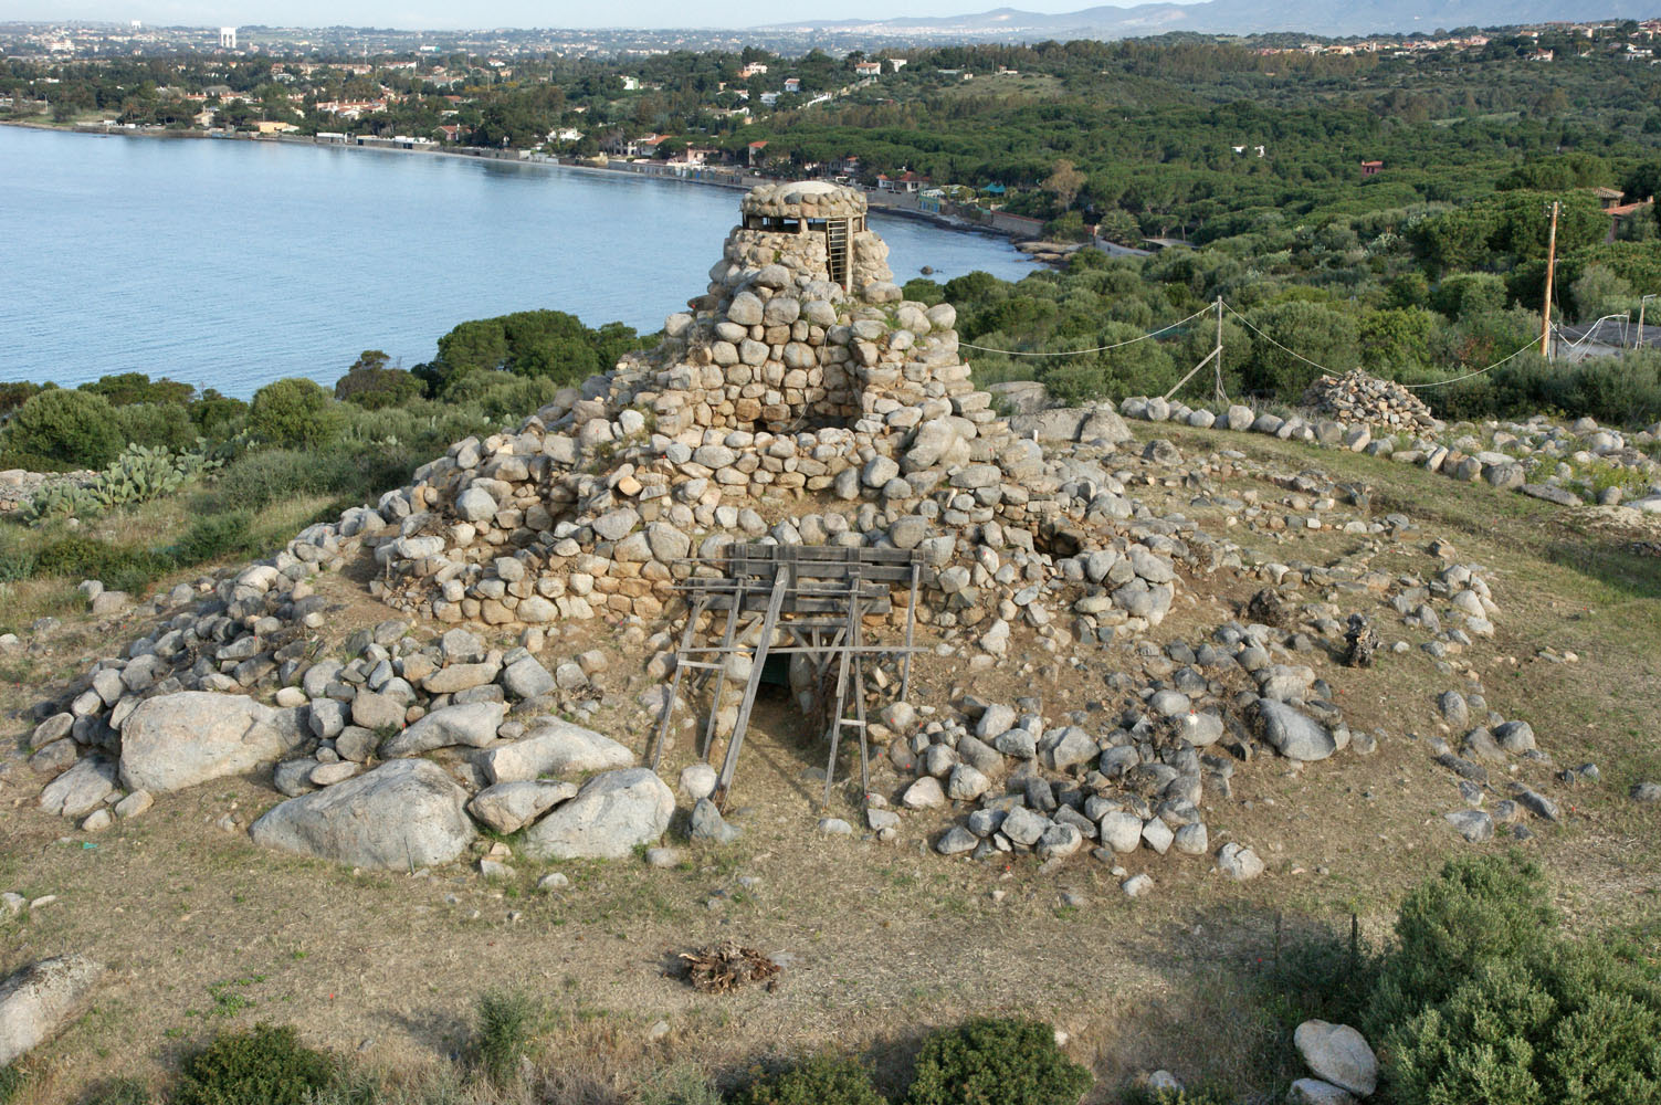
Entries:
{"label": "calm blue bay water behind the stone tower", "polygon": [[[0,381],[169,376],[251,395],[405,367],[457,322],[555,307],[646,332],[701,294],[739,193],[365,150],[0,126]],[[1002,239],[872,219],[904,282],[1018,279]]]}

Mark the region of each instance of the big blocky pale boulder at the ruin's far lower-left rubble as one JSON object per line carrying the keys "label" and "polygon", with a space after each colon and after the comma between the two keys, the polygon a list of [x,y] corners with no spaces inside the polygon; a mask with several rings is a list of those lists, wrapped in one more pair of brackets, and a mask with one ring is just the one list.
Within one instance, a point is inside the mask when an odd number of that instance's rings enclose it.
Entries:
{"label": "big blocky pale boulder at the ruin's far lower-left rubble", "polygon": [[311,738],[306,708],[179,691],[140,703],[121,726],[121,784],[168,794],[282,759]]}

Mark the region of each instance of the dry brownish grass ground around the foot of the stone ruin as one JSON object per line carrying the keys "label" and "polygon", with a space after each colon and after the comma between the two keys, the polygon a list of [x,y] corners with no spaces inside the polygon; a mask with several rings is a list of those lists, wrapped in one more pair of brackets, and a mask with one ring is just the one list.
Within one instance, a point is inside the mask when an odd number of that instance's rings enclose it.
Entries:
{"label": "dry brownish grass ground around the foot of the stone ruin", "polygon": [[[1271,472],[1314,469],[1369,484],[1375,515],[1402,512],[1420,527],[1375,567],[1427,573],[1425,547],[1440,537],[1462,560],[1492,568],[1498,635],[1455,660],[1482,675],[1493,708],[1533,723],[1558,768],[1595,761],[1603,771],[1601,784],[1570,789],[1551,768],[1521,766],[1516,778],[1556,796],[1566,813],[1560,826],[1535,823],[1538,836],[1525,847],[1553,874],[1571,927],[1590,939],[1654,914],[1661,826],[1626,793],[1661,778],[1653,729],[1661,560],[1634,553],[1634,535],[1608,530],[1595,512],[1257,435],[1159,434],[1184,455],[1237,449]],[[1247,487],[1264,502],[1286,495],[1249,475],[1226,490]],[[1138,494],[1156,512],[1181,510],[1224,530],[1224,513],[1193,507],[1181,487]],[[1325,563],[1365,542],[1330,530],[1242,530],[1229,535],[1282,562]],[[352,590],[345,580],[327,585],[342,597]],[[1257,587],[1229,575],[1191,580],[1183,593],[1193,602],[1179,598],[1159,636],[1198,643]],[[344,636],[384,616],[390,611],[359,598],[331,630]],[[1385,645],[1423,640],[1387,611],[1379,626]],[[566,630],[550,648],[558,656],[596,643],[616,651],[608,633],[601,625]],[[66,616],[47,655],[7,661],[0,706],[17,716],[47,681],[130,635]],[[945,706],[963,690],[1003,701],[1041,695],[1056,716],[1105,700],[1103,673],[1126,660],[1100,650],[1075,670],[1030,638],[1017,641],[1025,653],[1012,648],[1000,668],[973,676],[960,658],[922,658],[914,700]],[[1573,651],[1578,663],[1541,650]],[[40,814],[38,781],[17,768],[0,776],[0,889],[58,901],[0,922],[0,969],[85,950],[115,972],[96,1009],[32,1060],[18,1100],[71,1102],[113,1075],[159,1083],[189,1047],[256,1019],[294,1024],[307,1042],[369,1065],[422,1068],[463,1050],[475,999],[503,985],[523,987],[548,1010],[540,1055],[558,1082],[543,1100],[628,1100],[630,1087],[669,1063],[734,1072],[821,1045],[865,1052],[892,1088],[925,1029],[985,1012],[1025,1012],[1065,1029],[1068,1050],[1098,1077],[1093,1102],[1118,1100],[1128,1078],[1156,1067],[1241,1090],[1284,1090],[1292,1070],[1286,1025],[1262,1000],[1277,914],[1296,931],[1347,927],[1354,911],[1364,931],[1384,936],[1405,887],[1473,847],[1442,821],[1460,806],[1458,793],[1423,741],[1440,731],[1435,695],[1463,688],[1465,676],[1438,673],[1417,648],[1384,655],[1369,671],[1337,670],[1319,655],[1311,663],[1337,690],[1352,728],[1380,733],[1377,754],[1302,769],[1277,759],[1244,764],[1231,801],[1208,796],[1206,819],[1213,847],[1249,842],[1269,872],[1236,886],[1208,859],[1138,852],[1121,862],[1148,871],[1156,891],[1134,902],[1083,852],[1051,874],[1031,857],[1002,866],[942,859],[930,842],[943,816],[907,818],[889,846],[817,834],[826,811],[811,771],[822,769],[824,753],[782,700],[757,708],[746,744],[731,803],[744,836],[723,851],[688,847],[668,871],[515,859],[510,884],[482,882],[460,864],[359,874],[256,849],[241,826],[277,801],[259,781],[176,794],[88,837]],[[616,661],[608,686],[626,706],[603,711],[598,728],[644,749],[648,728],[630,708],[644,686],[638,668],[638,658]],[[7,728],[25,733],[22,719]],[[671,781],[688,761],[686,744],[664,768]],[[849,766],[844,759],[839,776]],[[899,779],[879,773],[874,786],[892,796]],[[854,798],[844,788],[829,813],[857,821]],[[216,828],[228,813],[238,831]],[[535,881],[548,869],[566,872],[570,887],[538,894]],[[1063,892],[1086,904],[1063,906]],[[786,965],[774,992],[706,995],[673,975],[678,952],[726,939]],[[651,1032],[659,1020],[668,1034]]]}

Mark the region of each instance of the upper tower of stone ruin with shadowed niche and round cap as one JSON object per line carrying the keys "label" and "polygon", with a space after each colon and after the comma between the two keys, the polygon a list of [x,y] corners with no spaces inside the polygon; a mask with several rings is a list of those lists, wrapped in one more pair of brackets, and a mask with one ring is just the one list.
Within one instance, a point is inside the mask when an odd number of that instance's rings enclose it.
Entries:
{"label": "upper tower of stone ruin with shadowed niche and round cap", "polygon": [[902,297],[889,248],[865,226],[864,193],[764,184],[739,211],[708,291],[664,321],[649,376],[613,381],[618,397],[649,404],[671,435],[799,434],[860,419],[909,429],[978,409],[957,314]]}

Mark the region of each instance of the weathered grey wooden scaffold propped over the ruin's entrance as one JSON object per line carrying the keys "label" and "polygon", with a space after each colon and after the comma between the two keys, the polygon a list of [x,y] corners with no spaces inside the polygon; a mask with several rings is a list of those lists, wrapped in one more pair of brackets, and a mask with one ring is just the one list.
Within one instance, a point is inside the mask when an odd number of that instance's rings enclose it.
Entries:
{"label": "weathered grey wooden scaffold propped over the ruin's entrance", "polygon": [[[804,656],[814,670],[816,705],[827,718],[830,758],[826,764],[826,803],[835,779],[835,756],[844,729],[859,734],[860,793],[870,789],[870,743],[865,734],[867,681],[899,683],[899,700],[910,696],[912,653],[917,630],[917,587],[922,558],[900,548],[844,548],[840,545],[729,545],[719,557],[689,562],[691,577],[678,585],[688,603],[686,626],[674,655],[674,678],[651,746],[656,771],[683,686],[709,686],[709,719],[698,754],[709,761],[726,690],[728,661],[749,658],[744,696],[716,781],[714,801],[726,803],[737,769],[749,715],[761,690],[769,656]],[[892,611],[890,592],[909,587],[905,641],[869,640],[867,616]],[[721,616],[721,615],[726,616]],[[719,640],[699,643],[719,626]],[[754,643],[749,643],[754,641]],[[892,675],[890,675],[892,671]],[[819,713],[821,710],[816,710]]]}

